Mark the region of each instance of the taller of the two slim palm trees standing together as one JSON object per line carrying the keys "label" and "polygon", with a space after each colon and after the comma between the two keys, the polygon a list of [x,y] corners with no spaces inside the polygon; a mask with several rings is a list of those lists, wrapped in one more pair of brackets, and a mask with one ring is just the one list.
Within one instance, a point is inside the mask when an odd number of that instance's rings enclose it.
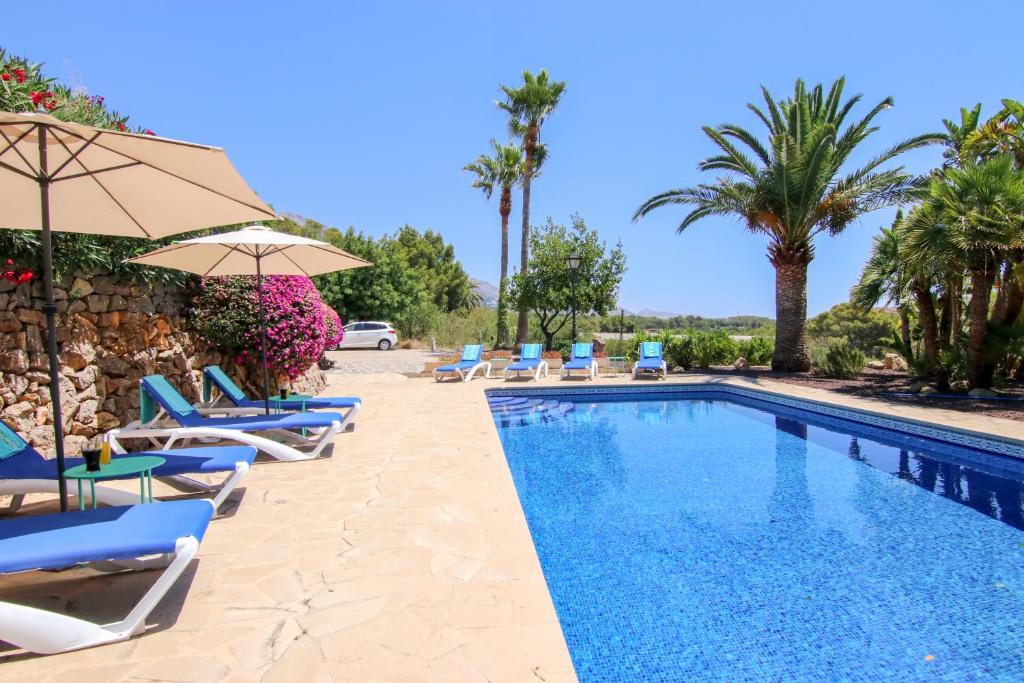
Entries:
{"label": "taller of the two slim palm trees standing together", "polygon": [[[537,76],[524,71],[521,86],[510,88],[503,85],[502,90],[505,92],[505,101],[498,102],[498,106],[509,115],[509,132],[522,139],[525,154],[522,170],[522,244],[519,252],[519,267],[525,272],[529,261],[529,191],[537,173],[541,126],[558,106],[558,100],[565,91],[565,82],[549,80],[545,69]],[[527,310],[525,306],[520,306],[516,323],[516,343],[524,343],[528,334]]]}

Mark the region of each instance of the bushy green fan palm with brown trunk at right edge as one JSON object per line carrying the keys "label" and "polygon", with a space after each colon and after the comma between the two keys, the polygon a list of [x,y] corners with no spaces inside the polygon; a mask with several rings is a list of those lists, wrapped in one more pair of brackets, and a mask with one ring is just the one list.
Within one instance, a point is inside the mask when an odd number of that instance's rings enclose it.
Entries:
{"label": "bushy green fan palm with brown trunk at right edge", "polygon": [[1024,248],[1024,173],[1010,155],[943,169],[907,222],[905,253],[919,263],[962,265],[971,278],[968,385],[991,384],[985,357],[992,287],[1000,263]]}

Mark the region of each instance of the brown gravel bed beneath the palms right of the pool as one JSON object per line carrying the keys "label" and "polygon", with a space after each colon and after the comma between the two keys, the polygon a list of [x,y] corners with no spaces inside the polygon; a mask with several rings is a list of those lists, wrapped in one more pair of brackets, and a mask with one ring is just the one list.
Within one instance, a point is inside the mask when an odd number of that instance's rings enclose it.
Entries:
{"label": "brown gravel bed beneath the palms right of the pool", "polygon": [[1024,387],[1019,384],[1012,384],[999,387],[1001,396],[1020,398],[1019,401],[1011,400],[957,400],[954,398],[927,398],[924,396],[893,396],[889,392],[905,392],[910,386],[910,379],[906,373],[892,370],[865,370],[861,376],[855,380],[834,380],[811,373],[799,373],[796,375],[773,373],[770,370],[753,369],[746,372],[735,370],[713,368],[711,370],[699,371],[712,375],[740,375],[744,377],[764,377],[784,382],[786,384],[801,384],[817,389],[827,389],[838,393],[862,396],[865,398],[884,398],[906,402],[921,407],[935,407],[948,411],[961,411],[963,413],[975,413],[987,415],[995,418],[1008,418],[1010,420],[1024,419]]}

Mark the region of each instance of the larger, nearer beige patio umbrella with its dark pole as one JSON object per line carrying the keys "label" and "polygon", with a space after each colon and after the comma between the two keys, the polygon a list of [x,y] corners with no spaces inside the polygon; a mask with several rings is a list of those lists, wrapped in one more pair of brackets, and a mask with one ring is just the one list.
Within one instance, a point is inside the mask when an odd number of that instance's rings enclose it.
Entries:
{"label": "larger, nearer beige patio umbrella with its dark pole", "polygon": [[218,147],[0,112],[0,228],[42,231],[61,510],[68,500],[50,233],[156,239],[274,217]]}

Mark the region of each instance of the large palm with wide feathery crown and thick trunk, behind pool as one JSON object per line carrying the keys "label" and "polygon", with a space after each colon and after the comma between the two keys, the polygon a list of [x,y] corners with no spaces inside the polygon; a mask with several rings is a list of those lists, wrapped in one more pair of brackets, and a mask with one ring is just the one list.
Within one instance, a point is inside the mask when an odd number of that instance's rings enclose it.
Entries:
{"label": "large palm with wide feathery crown and thick trunk, behind pool", "polygon": [[663,206],[689,205],[693,209],[679,224],[679,232],[708,216],[735,216],[752,232],[768,238],[768,260],[775,267],[776,371],[803,372],[811,366],[807,266],[814,258],[814,238],[838,234],[861,215],[904,201],[921,181],[902,167],[882,167],[903,152],[944,139],[928,134],[904,140],[843,174],[853,151],[878,130],[874,117],[892,106],[887,97],[844,127],[860,101],[860,95],[844,101],[844,85],[841,78],[825,94],[821,85],[807,90],[798,80],[793,97],[784,100],[775,100],[762,87],[767,113],[753,103],[748,108],[768,129],[768,139],[762,142],[733,124],[706,126],[705,133],[721,154],[698,168],[727,175],[714,183],[655,195],[633,216],[639,220]]}

